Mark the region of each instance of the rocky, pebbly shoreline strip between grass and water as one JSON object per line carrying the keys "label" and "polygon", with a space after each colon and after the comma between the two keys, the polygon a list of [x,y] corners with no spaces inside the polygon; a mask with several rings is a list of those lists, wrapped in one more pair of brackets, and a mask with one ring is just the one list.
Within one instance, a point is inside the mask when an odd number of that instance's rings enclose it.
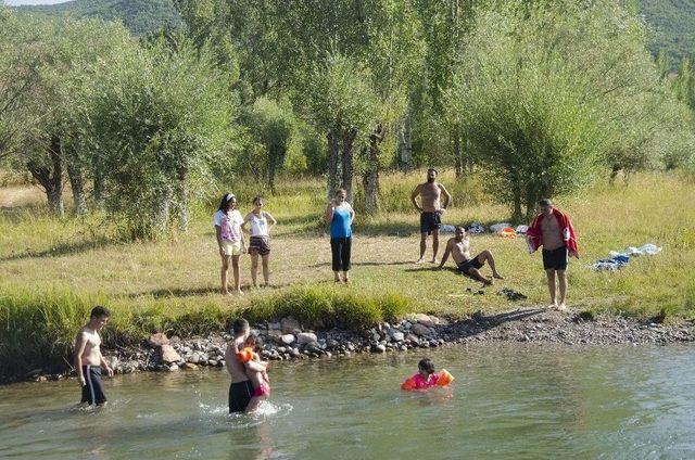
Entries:
{"label": "rocky, pebbly shoreline strip between grass and water", "polygon": [[[407,352],[453,344],[541,343],[555,345],[669,345],[695,342],[695,320],[674,324],[645,322],[634,318],[585,312],[518,308],[502,314],[476,312],[470,318],[447,321],[425,314],[410,314],[397,323],[380,323],[362,332],[314,331],[296,320],[252,324],[263,338],[260,355],[266,360],[350,357],[366,353]],[[223,367],[228,334],[180,338],[152,334],[136,347],[104,349],[114,373],[195,371]],[[147,343],[146,343],[147,342]],[[1,384],[23,381],[74,379],[73,372],[46,374],[35,369],[25,375],[2,376]]]}

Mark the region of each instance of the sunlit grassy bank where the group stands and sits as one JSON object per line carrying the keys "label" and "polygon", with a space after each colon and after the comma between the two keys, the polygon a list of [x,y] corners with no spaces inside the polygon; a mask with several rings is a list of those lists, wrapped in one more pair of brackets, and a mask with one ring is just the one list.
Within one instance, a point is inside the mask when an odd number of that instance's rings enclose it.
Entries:
{"label": "sunlit grassy bank where the group stands and sits", "polygon": [[[65,356],[76,329],[97,303],[114,310],[106,333],[111,343],[140,340],[155,330],[218,331],[241,310],[254,319],[292,314],[362,325],[406,309],[453,317],[507,309],[509,303],[495,295],[502,286],[528,296],[519,305],[546,303],[540,255],[527,254],[522,240],[489,234],[471,239],[473,252],[490,248],[507,277],[484,295],[467,293],[466,288],[478,285],[453,270],[413,264],[418,217],[409,210],[408,197],[421,177],[421,173],[387,176],[384,212],[371,218],[358,215],[349,286],[332,283],[328,238],[320,223],[326,201],[323,181],[280,183],[278,194],[266,200],[267,210],[279,221],[273,237],[274,288],[248,290],[250,260],[244,257],[243,297],[217,294],[219,261],[212,207],[201,205],[194,210],[189,234],[152,243],[117,242],[114,222],[103,216],[59,222],[38,203],[24,200],[22,206],[4,207],[0,213],[0,338],[8,345],[0,359],[5,362],[5,357],[16,354],[24,354],[27,361]],[[445,174],[442,181],[455,199],[445,223],[490,223],[508,216],[508,209],[486,197],[475,180],[457,182]],[[256,193],[243,184],[233,191],[242,204]],[[602,182],[557,202],[573,218],[582,252],[582,260],[572,261],[569,271],[570,306],[644,318],[695,315],[695,281],[690,271],[695,266],[691,227],[695,184],[675,175],[642,175],[627,186]],[[242,205],[243,210],[249,207]],[[664,252],[636,258],[618,272],[585,268],[610,250],[647,242],[662,246]]]}

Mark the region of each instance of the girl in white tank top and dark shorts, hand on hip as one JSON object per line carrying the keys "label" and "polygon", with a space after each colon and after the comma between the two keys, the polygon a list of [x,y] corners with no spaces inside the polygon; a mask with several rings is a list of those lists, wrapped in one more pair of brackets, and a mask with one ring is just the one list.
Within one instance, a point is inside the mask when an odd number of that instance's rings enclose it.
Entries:
{"label": "girl in white tank top and dark shorts, hand on hip", "polygon": [[[257,286],[256,278],[258,274],[258,255],[263,265],[264,285],[268,285],[270,281],[270,270],[268,261],[270,259],[270,227],[277,223],[270,213],[263,210],[263,197],[253,199],[253,210],[247,214],[241,228],[251,233],[251,242],[249,243],[249,254],[251,254],[251,281],[253,286]],[[248,225],[251,223],[249,230]]]}

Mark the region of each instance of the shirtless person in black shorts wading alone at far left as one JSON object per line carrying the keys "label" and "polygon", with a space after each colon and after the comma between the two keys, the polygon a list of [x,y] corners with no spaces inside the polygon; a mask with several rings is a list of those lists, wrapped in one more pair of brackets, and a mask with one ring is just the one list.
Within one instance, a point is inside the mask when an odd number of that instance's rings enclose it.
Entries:
{"label": "shirtless person in black shorts wading alone at far left", "polygon": [[101,382],[101,366],[109,376],[113,369],[101,355],[101,337],[99,331],[109,322],[111,314],[104,307],[94,307],[89,315],[89,322],[77,333],[75,338],[75,368],[83,388],[81,403],[103,406],[106,403],[104,386]]}

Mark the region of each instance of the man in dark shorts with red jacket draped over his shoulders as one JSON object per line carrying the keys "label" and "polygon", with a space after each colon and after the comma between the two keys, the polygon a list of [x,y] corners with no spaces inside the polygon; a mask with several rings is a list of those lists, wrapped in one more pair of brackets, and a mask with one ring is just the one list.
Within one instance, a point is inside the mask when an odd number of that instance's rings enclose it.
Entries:
{"label": "man in dark shorts with red jacket draped over his shoulders", "polygon": [[[547,274],[547,289],[551,292],[551,308],[566,309],[567,263],[569,256],[579,258],[577,235],[569,216],[553,207],[549,200],[539,202],[541,214],[535,216],[527,232],[529,252],[543,246],[543,268]],[[556,296],[555,276],[559,288],[559,299]]]}

